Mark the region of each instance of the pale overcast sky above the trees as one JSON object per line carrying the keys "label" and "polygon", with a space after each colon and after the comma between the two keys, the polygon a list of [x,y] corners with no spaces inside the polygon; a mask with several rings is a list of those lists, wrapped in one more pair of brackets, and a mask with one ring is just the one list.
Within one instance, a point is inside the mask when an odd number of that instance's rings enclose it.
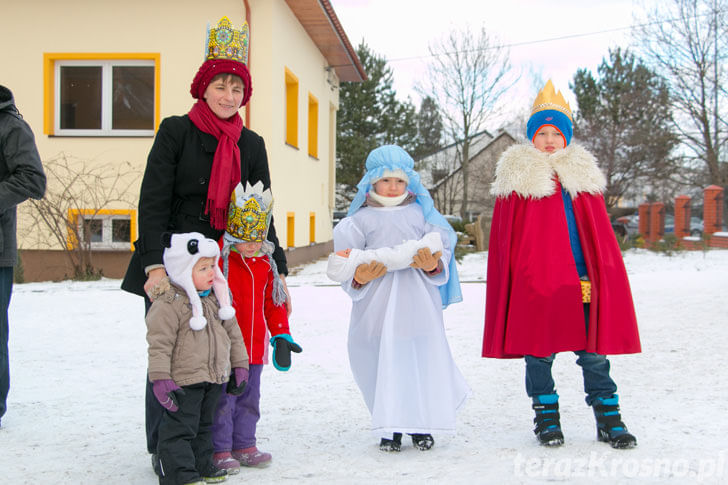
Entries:
{"label": "pale overcast sky above the trees", "polygon": [[[628,47],[629,27],[643,18],[651,0],[331,0],[356,48],[362,40],[390,60],[398,97],[411,96],[425,73],[428,45],[453,29],[484,26],[501,43],[512,45],[510,58],[522,78],[513,104],[530,108],[539,77],[552,79],[572,108],[569,82],[579,68],[596,74],[610,47]],[[580,35],[590,34],[590,35]],[[566,37],[566,38],[563,38]],[[548,40],[558,39],[559,40]],[[521,45],[518,45],[521,44]],[[516,106],[518,105],[518,106]],[[491,127],[494,128],[494,127]]]}

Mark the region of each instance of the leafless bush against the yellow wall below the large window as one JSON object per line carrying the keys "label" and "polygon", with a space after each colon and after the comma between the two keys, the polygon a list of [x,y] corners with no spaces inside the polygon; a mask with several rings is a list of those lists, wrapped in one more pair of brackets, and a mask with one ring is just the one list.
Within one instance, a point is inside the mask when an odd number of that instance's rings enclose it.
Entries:
{"label": "leafless bush against the yellow wall below the large window", "polygon": [[[105,209],[135,207],[140,172],[128,162],[89,163],[64,153],[44,161],[43,168],[48,177],[45,197],[22,206],[30,221],[25,237],[38,247],[62,248],[74,279],[99,275],[92,259],[92,221]],[[44,237],[48,232],[51,240]]]}

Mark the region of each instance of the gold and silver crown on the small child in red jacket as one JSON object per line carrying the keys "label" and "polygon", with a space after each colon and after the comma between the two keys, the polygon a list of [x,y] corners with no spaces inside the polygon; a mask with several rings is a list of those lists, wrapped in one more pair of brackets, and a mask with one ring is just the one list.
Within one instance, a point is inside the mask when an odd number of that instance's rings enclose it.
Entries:
{"label": "gold and silver crown on the small child in red jacket", "polygon": [[265,241],[273,209],[270,189],[263,190],[263,182],[252,187],[246,182],[235,187],[230,195],[228,222],[225,231],[235,239],[247,242]]}

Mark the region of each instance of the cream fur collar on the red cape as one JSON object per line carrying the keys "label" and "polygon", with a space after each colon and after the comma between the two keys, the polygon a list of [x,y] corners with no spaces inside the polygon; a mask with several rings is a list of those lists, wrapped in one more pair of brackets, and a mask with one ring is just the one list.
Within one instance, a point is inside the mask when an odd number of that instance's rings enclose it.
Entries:
{"label": "cream fur collar on the red cape", "polygon": [[594,155],[581,145],[571,144],[551,155],[533,145],[513,145],[498,160],[490,193],[506,197],[515,191],[541,199],[556,190],[554,175],[572,198],[580,192],[602,193],[607,186]]}

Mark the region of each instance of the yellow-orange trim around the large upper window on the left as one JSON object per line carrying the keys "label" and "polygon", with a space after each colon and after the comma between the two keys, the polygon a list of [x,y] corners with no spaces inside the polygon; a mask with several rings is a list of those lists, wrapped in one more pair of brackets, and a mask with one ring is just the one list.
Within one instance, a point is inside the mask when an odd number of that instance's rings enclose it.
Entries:
{"label": "yellow-orange trim around the large upper window on the left", "polygon": [[53,135],[55,120],[55,63],[56,61],[154,61],[154,131],[159,127],[160,62],[158,52],[46,52],[43,54],[43,133]]}

